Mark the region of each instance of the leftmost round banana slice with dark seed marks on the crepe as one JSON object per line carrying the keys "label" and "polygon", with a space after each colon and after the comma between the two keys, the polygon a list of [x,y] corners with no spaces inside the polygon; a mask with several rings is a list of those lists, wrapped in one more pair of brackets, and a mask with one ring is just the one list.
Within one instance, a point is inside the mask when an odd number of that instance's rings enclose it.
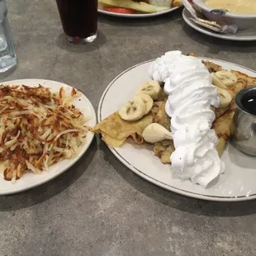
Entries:
{"label": "leftmost round banana slice with dark seed marks on the crepe", "polygon": [[135,96],[119,111],[119,116],[126,121],[136,121],[145,115],[146,106],[141,97]]}

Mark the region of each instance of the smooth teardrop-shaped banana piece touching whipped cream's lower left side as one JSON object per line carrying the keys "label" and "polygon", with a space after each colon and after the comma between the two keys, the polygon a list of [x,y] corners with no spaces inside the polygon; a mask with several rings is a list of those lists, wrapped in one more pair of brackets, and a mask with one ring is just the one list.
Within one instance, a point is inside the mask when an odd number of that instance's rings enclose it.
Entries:
{"label": "smooth teardrop-shaped banana piece touching whipped cream's lower left side", "polygon": [[173,134],[166,130],[164,126],[153,123],[145,128],[142,137],[146,142],[155,143],[161,140],[173,140]]}

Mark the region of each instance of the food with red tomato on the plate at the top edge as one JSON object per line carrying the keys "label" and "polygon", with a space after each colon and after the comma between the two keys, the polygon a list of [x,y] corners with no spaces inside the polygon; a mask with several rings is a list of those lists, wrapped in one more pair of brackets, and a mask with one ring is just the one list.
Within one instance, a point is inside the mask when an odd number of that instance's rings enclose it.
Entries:
{"label": "food with red tomato on the plate at the top edge", "polygon": [[98,2],[102,3],[104,11],[125,14],[164,12],[170,8],[183,5],[181,0],[145,0],[141,2],[132,0],[98,0]]}

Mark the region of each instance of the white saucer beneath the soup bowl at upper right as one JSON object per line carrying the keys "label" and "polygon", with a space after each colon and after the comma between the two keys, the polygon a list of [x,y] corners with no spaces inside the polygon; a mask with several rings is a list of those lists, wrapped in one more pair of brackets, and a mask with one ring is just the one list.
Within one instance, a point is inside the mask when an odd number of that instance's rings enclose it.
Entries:
{"label": "white saucer beneath the soup bowl at upper right", "polygon": [[251,41],[256,40],[256,26],[254,28],[250,28],[244,31],[237,31],[234,35],[230,34],[220,34],[215,31],[208,30],[206,27],[197,25],[194,21],[192,21],[190,12],[187,11],[186,8],[183,9],[183,19],[187,23],[188,26],[191,26],[196,31],[199,31],[208,36],[217,37],[224,40],[238,40],[238,41]]}

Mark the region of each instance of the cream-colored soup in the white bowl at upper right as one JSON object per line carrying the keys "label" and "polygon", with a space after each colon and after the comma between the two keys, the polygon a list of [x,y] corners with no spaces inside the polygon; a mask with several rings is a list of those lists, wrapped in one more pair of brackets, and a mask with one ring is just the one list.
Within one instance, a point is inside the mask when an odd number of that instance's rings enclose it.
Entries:
{"label": "cream-colored soup in the white bowl at upper right", "polygon": [[256,13],[255,0],[206,0],[206,5],[235,13]]}

